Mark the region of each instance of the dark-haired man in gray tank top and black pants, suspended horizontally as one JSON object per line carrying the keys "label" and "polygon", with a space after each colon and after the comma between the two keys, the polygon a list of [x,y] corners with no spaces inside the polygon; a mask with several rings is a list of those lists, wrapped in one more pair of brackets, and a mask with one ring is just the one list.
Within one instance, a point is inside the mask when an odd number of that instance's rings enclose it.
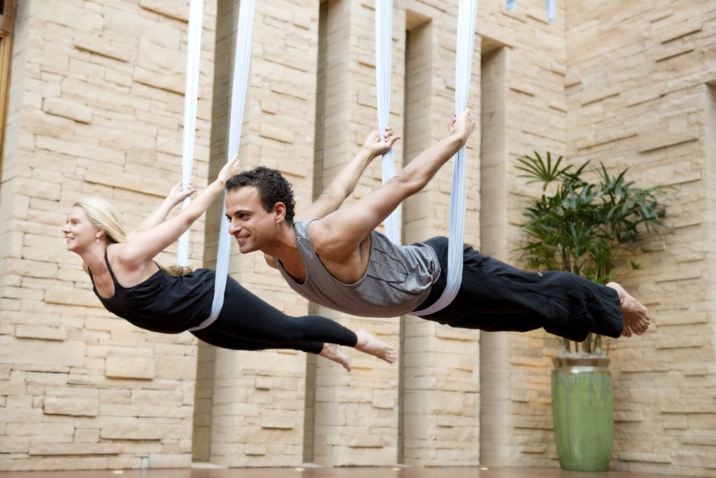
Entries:
{"label": "dark-haired man in gray tank top and black pants, suspended horizontally", "polygon": [[[405,198],[422,190],[463,147],[475,124],[470,109],[450,135],[415,157],[386,185],[340,208],[374,157],[398,139],[386,131],[360,152],[308,208],[294,218],[291,186],[276,170],[254,168],[226,183],[229,233],[241,253],[261,250],[297,293],[357,316],[393,317],[430,306],[445,288],[446,238],[398,246],[375,232]],[[463,283],[452,303],[423,316],[485,331],[546,331],[583,341],[587,333],[641,335],[647,309],[617,283],[593,283],[571,273],[528,273],[463,250]]]}

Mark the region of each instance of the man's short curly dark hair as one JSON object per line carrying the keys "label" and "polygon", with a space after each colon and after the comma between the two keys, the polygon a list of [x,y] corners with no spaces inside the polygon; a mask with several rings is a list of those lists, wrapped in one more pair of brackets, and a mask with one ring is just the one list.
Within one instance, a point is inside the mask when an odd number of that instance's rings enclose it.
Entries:
{"label": "man's short curly dark hair", "polygon": [[286,223],[294,224],[296,214],[296,200],[291,183],[277,170],[270,167],[257,166],[251,170],[243,171],[226,181],[226,191],[231,192],[245,186],[255,186],[261,197],[261,205],[267,213],[274,210],[276,203],[286,205]]}

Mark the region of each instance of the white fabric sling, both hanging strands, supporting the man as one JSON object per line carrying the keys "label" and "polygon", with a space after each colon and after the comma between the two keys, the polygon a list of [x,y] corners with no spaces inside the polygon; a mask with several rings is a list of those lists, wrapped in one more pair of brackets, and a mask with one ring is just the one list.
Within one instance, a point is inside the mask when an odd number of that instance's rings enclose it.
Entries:
{"label": "white fabric sling, both hanging strands, supporting the man", "polygon": [[[378,126],[382,137],[388,123],[390,109],[390,50],[392,42],[392,0],[377,0],[376,14],[376,77],[378,97]],[[468,107],[470,72],[473,64],[475,18],[478,14],[477,0],[460,0],[458,10],[458,49],[455,58],[455,116]],[[432,306],[411,315],[426,316],[440,311],[453,301],[463,281],[463,238],[465,236],[465,162],[466,147],[455,155],[453,170],[453,194],[450,197],[450,228],[448,239],[448,281],[442,296]],[[392,150],[383,155],[383,184],[395,175]],[[395,225],[392,223],[395,222]],[[386,235],[399,244],[397,212],[393,211],[386,221]]]}

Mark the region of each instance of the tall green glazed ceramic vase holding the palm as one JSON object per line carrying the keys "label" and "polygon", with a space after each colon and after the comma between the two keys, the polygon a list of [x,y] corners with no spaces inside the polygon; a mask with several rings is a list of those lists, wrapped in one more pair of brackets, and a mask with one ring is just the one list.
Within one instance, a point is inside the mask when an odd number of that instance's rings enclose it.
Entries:
{"label": "tall green glazed ceramic vase holding the palm", "polygon": [[552,416],[563,469],[609,469],[614,395],[609,358],[552,359]]}

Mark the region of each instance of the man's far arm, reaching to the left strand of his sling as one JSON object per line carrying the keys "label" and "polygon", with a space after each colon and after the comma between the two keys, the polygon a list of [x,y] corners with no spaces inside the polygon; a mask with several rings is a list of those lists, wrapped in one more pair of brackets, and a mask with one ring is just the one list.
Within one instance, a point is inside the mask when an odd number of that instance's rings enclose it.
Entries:
{"label": "man's far arm, reaching to the left strand of his sling", "polygon": [[363,146],[353,159],[338,173],[331,183],[316,197],[307,208],[296,212],[296,220],[320,219],[341,207],[343,201],[352,194],[358,180],[375,157],[390,150],[399,137],[392,135],[390,126],[385,130],[385,141],[380,139],[377,131],[370,133]]}

